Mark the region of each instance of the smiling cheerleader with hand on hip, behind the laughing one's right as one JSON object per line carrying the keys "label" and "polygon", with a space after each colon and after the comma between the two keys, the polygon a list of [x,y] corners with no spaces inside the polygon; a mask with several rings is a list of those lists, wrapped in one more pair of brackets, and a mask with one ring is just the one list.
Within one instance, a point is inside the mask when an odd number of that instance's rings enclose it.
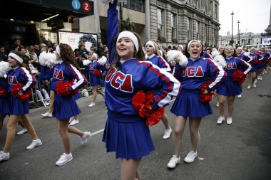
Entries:
{"label": "smiling cheerleader with hand on hip, behind the laughing one's right", "polygon": [[227,78],[217,89],[218,99],[219,99],[219,112],[220,117],[218,117],[218,125],[221,125],[225,121],[224,117],[224,105],[227,101],[227,125],[232,124],[232,112],[234,110],[235,95],[240,95],[242,92],[241,85],[235,83],[232,80],[232,75],[235,70],[242,69],[242,72],[247,75],[250,72],[251,65],[245,60],[240,58],[235,58],[235,49],[232,46],[226,46],[225,50],[225,60],[226,67],[225,71],[227,73]]}

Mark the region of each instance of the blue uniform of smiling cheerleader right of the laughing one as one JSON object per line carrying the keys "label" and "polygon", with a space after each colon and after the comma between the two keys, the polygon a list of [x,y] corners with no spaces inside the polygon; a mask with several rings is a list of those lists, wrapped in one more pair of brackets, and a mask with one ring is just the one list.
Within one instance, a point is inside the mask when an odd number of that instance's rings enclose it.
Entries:
{"label": "blue uniform of smiling cheerleader right of the laughing one", "polygon": [[232,57],[230,59],[225,58],[226,60],[226,67],[225,71],[227,73],[226,80],[218,87],[217,93],[218,95],[225,95],[225,96],[235,96],[240,95],[242,93],[241,85],[235,83],[232,80],[232,75],[235,70],[242,70],[245,75],[250,72],[251,65],[245,60],[240,58]]}

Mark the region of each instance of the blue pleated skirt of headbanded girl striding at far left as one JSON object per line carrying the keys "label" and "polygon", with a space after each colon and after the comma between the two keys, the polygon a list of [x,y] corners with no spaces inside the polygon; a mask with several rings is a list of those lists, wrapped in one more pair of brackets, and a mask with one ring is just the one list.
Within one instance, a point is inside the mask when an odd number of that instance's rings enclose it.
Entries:
{"label": "blue pleated skirt of headbanded girl striding at far left", "polygon": [[10,115],[24,115],[29,114],[29,100],[21,102],[12,95],[9,96],[9,109]]}

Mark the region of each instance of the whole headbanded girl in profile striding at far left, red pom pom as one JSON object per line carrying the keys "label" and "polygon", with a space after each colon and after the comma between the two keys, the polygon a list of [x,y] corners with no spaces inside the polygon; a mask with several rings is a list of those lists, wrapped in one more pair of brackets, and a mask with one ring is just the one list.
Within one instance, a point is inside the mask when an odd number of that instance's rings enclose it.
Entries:
{"label": "whole headbanded girl in profile striding at far left, red pom pom", "polygon": [[[7,74],[7,80],[9,83],[8,92],[10,117],[9,122],[6,125],[6,144],[3,151],[0,152],[0,161],[9,159],[9,149],[14,141],[16,125],[19,120],[22,120],[24,126],[29,131],[29,134],[33,139],[32,143],[26,147],[26,149],[34,149],[42,144],[41,139],[36,135],[36,131],[29,120],[29,100],[27,98],[23,101],[21,100],[22,97],[26,97],[27,94],[29,95],[29,89],[36,84],[36,79],[31,75],[31,73],[29,73],[29,69],[26,68],[27,65],[23,63],[23,59],[24,57],[22,57],[18,51],[11,51],[11,53],[9,53],[8,61],[11,70],[9,70]],[[21,90],[16,92],[13,87],[18,84],[22,84],[23,86]]]}

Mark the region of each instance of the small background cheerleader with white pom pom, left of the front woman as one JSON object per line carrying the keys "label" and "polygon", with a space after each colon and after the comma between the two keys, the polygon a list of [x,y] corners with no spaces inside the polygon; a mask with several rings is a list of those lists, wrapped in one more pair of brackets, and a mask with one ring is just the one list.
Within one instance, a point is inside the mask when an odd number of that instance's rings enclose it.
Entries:
{"label": "small background cheerleader with white pom pom, left of the front woman", "polygon": [[96,71],[98,71],[99,75],[101,74],[101,64],[98,62],[98,54],[93,53],[91,55],[91,60],[84,60],[83,65],[86,67],[86,72],[88,72],[91,81],[91,88],[93,90],[92,102],[88,107],[93,107],[96,105],[95,102],[98,93],[104,98],[103,92],[98,90],[98,85],[102,85],[103,83],[101,77],[96,74]]}

